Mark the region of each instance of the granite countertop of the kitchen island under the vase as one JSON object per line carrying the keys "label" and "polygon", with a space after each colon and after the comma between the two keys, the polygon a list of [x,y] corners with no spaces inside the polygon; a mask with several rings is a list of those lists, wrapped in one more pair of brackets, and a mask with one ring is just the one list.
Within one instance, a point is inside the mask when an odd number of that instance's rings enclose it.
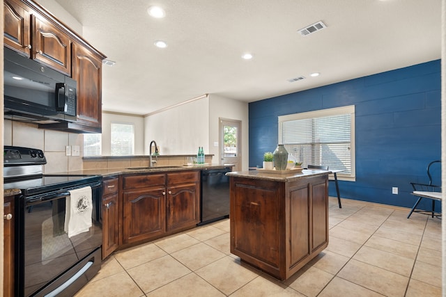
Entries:
{"label": "granite countertop of the kitchen island under the vase", "polygon": [[[264,179],[271,180],[275,182],[293,182],[297,179],[302,179],[306,177],[316,177],[318,175],[329,175],[330,170],[285,170],[284,172],[270,172],[268,170],[263,172],[261,168],[259,170],[249,170],[249,171],[234,171],[228,172],[226,175],[229,177],[244,177],[248,179]],[[296,171],[296,172],[293,172]]]}

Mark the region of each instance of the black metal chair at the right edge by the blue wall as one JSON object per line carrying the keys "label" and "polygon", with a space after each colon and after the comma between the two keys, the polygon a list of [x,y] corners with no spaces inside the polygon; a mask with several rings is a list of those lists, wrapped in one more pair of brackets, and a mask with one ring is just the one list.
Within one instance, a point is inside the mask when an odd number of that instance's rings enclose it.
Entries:
{"label": "black metal chair at the right edge by the blue wall", "polygon": [[[441,213],[435,212],[435,202],[440,201],[441,202],[441,186],[436,186],[433,184],[433,177],[432,177],[432,171],[433,171],[433,164],[439,163],[441,165],[441,161],[432,161],[427,166],[427,176],[429,177],[429,184],[420,184],[417,182],[411,182],[410,184],[413,187],[412,195],[415,195],[418,197],[417,202],[413,205],[412,209],[410,209],[410,212],[407,216],[407,218],[410,218],[413,212],[418,212],[420,214],[427,214],[431,215],[432,218],[434,216],[441,216]],[[438,165],[438,164],[437,164]],[[441,166],[440,166],[441,168]],[[422,199],[429,199],[432,200],[432,210],[428,211],[426,209],[417,209],[418,204],[420,204]]]}

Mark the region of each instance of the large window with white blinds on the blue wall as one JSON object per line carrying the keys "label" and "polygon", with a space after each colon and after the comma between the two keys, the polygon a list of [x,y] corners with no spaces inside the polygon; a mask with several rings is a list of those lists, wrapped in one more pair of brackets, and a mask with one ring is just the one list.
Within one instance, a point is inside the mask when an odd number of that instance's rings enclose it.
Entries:
{"label": "large window with white blinds on the blue wall", "polygon": [[355,177],[355,106],[279,116],[279,143],[302,162]]}

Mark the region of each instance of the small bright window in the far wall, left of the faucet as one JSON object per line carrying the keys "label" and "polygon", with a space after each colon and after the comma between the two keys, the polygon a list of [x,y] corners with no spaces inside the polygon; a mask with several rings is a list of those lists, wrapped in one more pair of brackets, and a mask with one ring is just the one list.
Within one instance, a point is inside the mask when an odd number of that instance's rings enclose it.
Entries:
{"label": "small bright window in the far wall, left of the faucet", "polygon": [[134,154],[134,125],[112,122],[112,156],[131,156]]}

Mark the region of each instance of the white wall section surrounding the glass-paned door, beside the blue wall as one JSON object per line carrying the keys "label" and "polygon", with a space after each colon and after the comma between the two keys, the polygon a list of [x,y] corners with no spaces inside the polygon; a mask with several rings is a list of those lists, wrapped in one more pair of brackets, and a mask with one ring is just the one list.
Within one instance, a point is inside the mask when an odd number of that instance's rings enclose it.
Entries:
{"label": "white wall section surrounding the glass-paned door, beside the blue wall", "polygon": [[219,118],[229,120],[242,121],[241,138],[242,138],[242,170],[248,170],[249,164],[249,137],[248,137],[248,104],[234,99],[221,97],[220,95],[210,94],[209,103],[209,147],[210,154],[214,154],[214,163],[220,161],[219,147],[215,147],[214,143],[220,146],[220,124]]}

